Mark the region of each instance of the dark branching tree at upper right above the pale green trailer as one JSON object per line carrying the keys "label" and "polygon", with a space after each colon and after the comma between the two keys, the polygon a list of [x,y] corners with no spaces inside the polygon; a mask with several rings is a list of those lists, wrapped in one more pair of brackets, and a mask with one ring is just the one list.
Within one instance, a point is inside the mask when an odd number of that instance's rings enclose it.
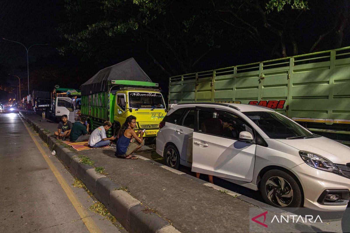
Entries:
{"label": "dark branching tree at upper right above the pale green trailer", "polygon": [[[344,28],[349,23],[349,2],[347,0],[332,2],[327,12],[329,16],[323,22],[317,17],[327,6],[313,2],[311,10],[309,3],[303,0],[222,0],[216,2],[217,17],[235,34],[245,35],[250,42],[266,48],[270,57],[287,57],[301,52],[313,52],[319,43],[327,36],[337,39],[329,43],[328,49],[342,46]],[[334,10],[336,9],[336,10]],[[313,19],[313,27],[306,24]],[[319,29],[319,30],[318,30]],[[318,30],[318,31],[316,31]],[[310,31],[317,36],[306,37]],[[231,32],[232,33],[232,32]],[[310,44],[308,40],[314,41]],[[301,45],[301,46],[300,46]],[[290,51],[288,53],[288,51]]]}

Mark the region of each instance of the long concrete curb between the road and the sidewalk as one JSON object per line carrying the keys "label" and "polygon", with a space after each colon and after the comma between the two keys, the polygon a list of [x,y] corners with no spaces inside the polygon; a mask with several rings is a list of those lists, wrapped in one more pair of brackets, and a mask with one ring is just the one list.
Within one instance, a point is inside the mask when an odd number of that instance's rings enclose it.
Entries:
{"label": "long concrete curb between the road and the sidewalk", "polygon": [[[77,154],[71,152],[63,145],[56,142],[48,132],[37,123],[30,121],[20,112],[34,130],[39,133],[49,147],[56,151],[56,156],[63,164],[69,168],[70,172],[78,179],[82,180],[86,188],[94,194],[96,199],[103,203],[110,213],[122,224],[130,233],[180,233],[169,222],[153,210],[142,205],[140,201],[133,198],[123,190],[117,190],[120,185],[113,182],[105,175],[99,174],[92,166],[79,162]],[[156,163],[152,161],[153,163]],[[159,164],[163,166],[162,164]]]}

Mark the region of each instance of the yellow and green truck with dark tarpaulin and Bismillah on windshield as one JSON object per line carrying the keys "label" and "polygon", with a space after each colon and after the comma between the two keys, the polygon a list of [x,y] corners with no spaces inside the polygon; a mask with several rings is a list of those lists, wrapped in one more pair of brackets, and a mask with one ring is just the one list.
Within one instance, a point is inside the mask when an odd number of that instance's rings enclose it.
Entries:
{"label": "yellow and green truck with dark tarpaulin and Bismillah on windshield", "polygon": [[110,121],[107,137],[116,136],[128,116],[137,118],[137,130],[155,139],[159,123],[167,113],[158,83],[153,83],[133,58],[104,68],[85,82],[81,115],[89,117],[90,129]]}

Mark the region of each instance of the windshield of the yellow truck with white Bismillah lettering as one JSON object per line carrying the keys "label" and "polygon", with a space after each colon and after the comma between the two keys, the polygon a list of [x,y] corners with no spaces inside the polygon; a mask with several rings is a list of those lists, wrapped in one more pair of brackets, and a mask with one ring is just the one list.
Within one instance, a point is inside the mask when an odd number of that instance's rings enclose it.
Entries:
{"label": "windshield of the yellow truck with white Bismillah lettering", "polygon": [[130,108],[165,108],[162,94],[151,92],[130,92],[129,93]]}

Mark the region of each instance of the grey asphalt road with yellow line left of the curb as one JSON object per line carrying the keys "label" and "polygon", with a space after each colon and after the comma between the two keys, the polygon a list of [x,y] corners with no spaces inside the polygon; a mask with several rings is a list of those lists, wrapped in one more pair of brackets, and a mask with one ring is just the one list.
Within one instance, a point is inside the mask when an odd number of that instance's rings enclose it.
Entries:
{"label": "grey asphalt road with yellow line left of the curb", "polygon": [[92,197],[17,113],[0,123],[0,232],[126,232],[87,210]]}

